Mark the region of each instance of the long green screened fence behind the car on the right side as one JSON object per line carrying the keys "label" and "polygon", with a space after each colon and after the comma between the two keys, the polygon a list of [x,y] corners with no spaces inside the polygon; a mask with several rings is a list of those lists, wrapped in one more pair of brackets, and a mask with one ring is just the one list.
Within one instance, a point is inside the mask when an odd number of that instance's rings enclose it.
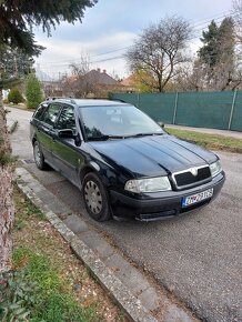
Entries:
{"label": "long green screened fence behind the car on the right side", "polygon": [[169,124],[242,131],[242,91],[112,93]]}

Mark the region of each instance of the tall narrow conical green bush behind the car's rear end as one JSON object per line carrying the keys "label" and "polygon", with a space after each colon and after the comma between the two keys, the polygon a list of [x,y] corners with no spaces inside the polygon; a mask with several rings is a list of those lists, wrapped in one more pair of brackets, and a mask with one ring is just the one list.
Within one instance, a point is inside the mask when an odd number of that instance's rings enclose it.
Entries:
{"label": "tall narrow conical green bush behind the car's rear end", "polygon": [[27,107],[36,109],[43,100],[41,84],[34,73],[30,73],[26,80]]}

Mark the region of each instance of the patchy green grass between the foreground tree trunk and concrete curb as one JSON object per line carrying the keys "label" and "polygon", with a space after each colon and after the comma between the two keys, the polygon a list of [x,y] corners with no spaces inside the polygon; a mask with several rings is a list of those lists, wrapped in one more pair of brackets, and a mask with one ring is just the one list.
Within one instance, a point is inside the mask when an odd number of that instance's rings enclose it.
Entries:
{"label": "patchy green grass between the foreground tree trunk and concrete curb", "polygon": [[[29,321],[101,321],[101,316],[95,312],[95,305],[90,308],[79,305],[70,293],[70,282],[61,270],[61,263],[56,261],[54,256],[48,256],[48,252],[53,249],[58,251],[59,241],[54,242],[53,237],[48,238],[49,230],[47,232],[46,230],[49,223],[43,220],[43,214],[18,189],[14,189],[14,195],[16,230],[27,230],[31,224],[37,229],[30,232],[29,243],[33,243],[33,248],[28,244],[29,233],[26,233],[26,244],[20,242],[12,256],[14,270],[17,272],[24,270],[28,279],[38,285],[37,304],[26,309],[30,310]],[[42,251],[44,249],[46,251]]]}

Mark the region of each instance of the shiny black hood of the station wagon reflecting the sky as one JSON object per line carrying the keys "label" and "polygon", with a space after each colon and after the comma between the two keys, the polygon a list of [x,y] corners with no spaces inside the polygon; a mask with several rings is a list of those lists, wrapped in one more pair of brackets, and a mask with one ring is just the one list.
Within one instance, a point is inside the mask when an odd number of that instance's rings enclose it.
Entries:
{"label": "shiny black hood of the station wagon reflecting the sky", "polygon": [[218,159],[214,153],[169,134],[89,143],[103,161],[122,167],[137,178],[165,175]]}

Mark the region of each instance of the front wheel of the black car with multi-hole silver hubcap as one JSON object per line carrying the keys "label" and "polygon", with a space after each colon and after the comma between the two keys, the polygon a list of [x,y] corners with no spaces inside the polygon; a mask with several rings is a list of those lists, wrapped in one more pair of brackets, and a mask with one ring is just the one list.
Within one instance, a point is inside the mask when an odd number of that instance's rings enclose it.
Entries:
{"label": "front wheel of the black car with multi-hole silver hubcap", "polygon": [[90,172],[82,181],[84,205],[95,221],[107,221],[111,218],[107,190],[99,177]]}

